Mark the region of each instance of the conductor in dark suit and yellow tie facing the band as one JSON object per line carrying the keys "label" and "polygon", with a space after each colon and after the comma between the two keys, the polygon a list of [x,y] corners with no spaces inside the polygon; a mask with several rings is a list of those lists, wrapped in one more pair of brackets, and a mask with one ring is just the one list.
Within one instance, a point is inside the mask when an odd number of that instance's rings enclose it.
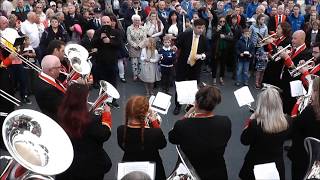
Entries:
{"label": "conductor in dark suit and yellow tie facing the band", "polygon": [[[206,38],[202,35],[205,21],[197,19],[193,23],[193,31],[181,33],[177,40],[178,61],[176,63],[176,81],[197,80],[200,78],[201,64],[206,58]],[[180,113],[181,105],[175,95],[173,114]]]}

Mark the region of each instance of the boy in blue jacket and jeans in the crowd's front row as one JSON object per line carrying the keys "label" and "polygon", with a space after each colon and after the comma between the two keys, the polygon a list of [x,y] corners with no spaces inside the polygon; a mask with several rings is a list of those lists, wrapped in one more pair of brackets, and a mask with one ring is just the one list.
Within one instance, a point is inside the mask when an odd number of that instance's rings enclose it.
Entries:
{"label": "boy in blue jacket and jeans in the crowd's front row", "polygon": [[237,77],[236,86],[240,86],[243,83],[245,86],[248,85],[249,80],[249,65],[253,59],[254,44],[250,40],[250,32],[248,28],[243,29],[242,36],[236,44],[237,54]]}

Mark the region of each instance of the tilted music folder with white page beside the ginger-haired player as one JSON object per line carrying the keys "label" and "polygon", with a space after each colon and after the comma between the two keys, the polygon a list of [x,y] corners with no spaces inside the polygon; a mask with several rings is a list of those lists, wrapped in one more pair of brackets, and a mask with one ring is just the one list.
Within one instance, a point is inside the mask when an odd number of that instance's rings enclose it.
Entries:
{"label": "tilted music folder with white page beside the ginger-haired player", "polygon": [[156,96],[149,99],[150,108],[158,113],[167,114],[171,105],[171,96],[158,92]]}

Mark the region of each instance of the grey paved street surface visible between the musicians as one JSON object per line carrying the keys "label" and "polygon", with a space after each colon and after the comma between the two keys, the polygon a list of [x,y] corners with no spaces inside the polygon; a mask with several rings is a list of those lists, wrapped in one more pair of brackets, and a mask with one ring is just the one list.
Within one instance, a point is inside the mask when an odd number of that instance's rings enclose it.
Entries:
{"label": "grey paved street surface visible between the musicians", "polygon": [[[131,77],[131,76],[130,76]],[[123,152],[119,148],[116,139],[116,129],[119,125],[124,122],[124,107],[126,100],[132,95],[142,95],[144,94],[144,86],[141,82],[132,82],[131,78],[128,77],[127,83],[120,83],[118,85],[118,91],[120,92],[121,98],[118,100],[120,104],[120,109],[113,109],[112,110],[112,118],[113,118],[113,128],[112,128],[112,135],[111,138],[104,144],[104,148],[109,154],[110,158],[112,159],[113,166],[111,171],[105,175],[105,180],[113,180],[116,179],[116,172],[117,172],[117,162],[121,161]],[[205,83],[211,83],[211,76],[208,73],[202,74],[202,80]],[[252,78],[251,78],[252,79]],[[253,84],[253,83],[251,83]],[[225,86],[221,87],[218,85],[222,92],[222,103],[217,106],[215,113],[219,115],[227,115],[232,121],[232,136],[228,143],[225,159],[228,168],[228,176],[229,179],[234,180],[238,179],[238,173],[243,163],[243,158],[246,154],[247,147],[243,146],[240,143],[240,134],[243,127],[244,120],[250,116],[249,110],[246,107],[239,108],[236,102],[236,99],[233,95],[233,91],[237,89],[234,86],[234,81],[231,80],[230,75],[228,74],[225,79]],[[253,87],[253,86],[252,86]],[[256,96],[257,91],[254,88],[250,88],[251,92]],[[173,88],[171,88],[171,93],[173,94]],[[90,92],[90,100],[94,101],[97,97],[98,90],[92,90]],[[173,98],[174,99],[174,98]],[[172,100],[173,100],[172,99]],[[22,108],[32,108],[38,109],[36,105],[36,101],[34,97],[32,97],[33,104],[30,106],[24,106]],[[174,102],[172,101],[172,104]],[[174,116],[172,114],[172,110],[174,105],[170,107],[168,115],[162,115],[162,124],[161,128],[164,131],[166,137],[168,136],[168,132],[173,127],[175,121],[177,121],[183,113],[179,116]],[[177,154],[175,152],[174,145],[168,142],[167,147],[161,151],[161,156],[163,159],[163,163],[165,166],[166,174],[169,176],[171,171],[173,170],[175,163],[177,161]],[[286,159],[286,171],[287,171],[287,179],[289,178],[289,169],[290,169],[290,162]],[[214,162],[212,162],[214,163]]]}

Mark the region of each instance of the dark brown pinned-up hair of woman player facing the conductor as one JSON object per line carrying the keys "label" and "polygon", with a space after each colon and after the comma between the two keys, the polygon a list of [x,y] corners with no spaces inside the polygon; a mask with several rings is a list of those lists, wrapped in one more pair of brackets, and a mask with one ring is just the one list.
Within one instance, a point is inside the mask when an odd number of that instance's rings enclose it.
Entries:
{"label": "dark brown pinned-up hair of woman player facing the conductor", "polygon": [[220,90],[214,86],[206,85],[196,94],[196,104],[200,110],[213,111],[220,102]]}

